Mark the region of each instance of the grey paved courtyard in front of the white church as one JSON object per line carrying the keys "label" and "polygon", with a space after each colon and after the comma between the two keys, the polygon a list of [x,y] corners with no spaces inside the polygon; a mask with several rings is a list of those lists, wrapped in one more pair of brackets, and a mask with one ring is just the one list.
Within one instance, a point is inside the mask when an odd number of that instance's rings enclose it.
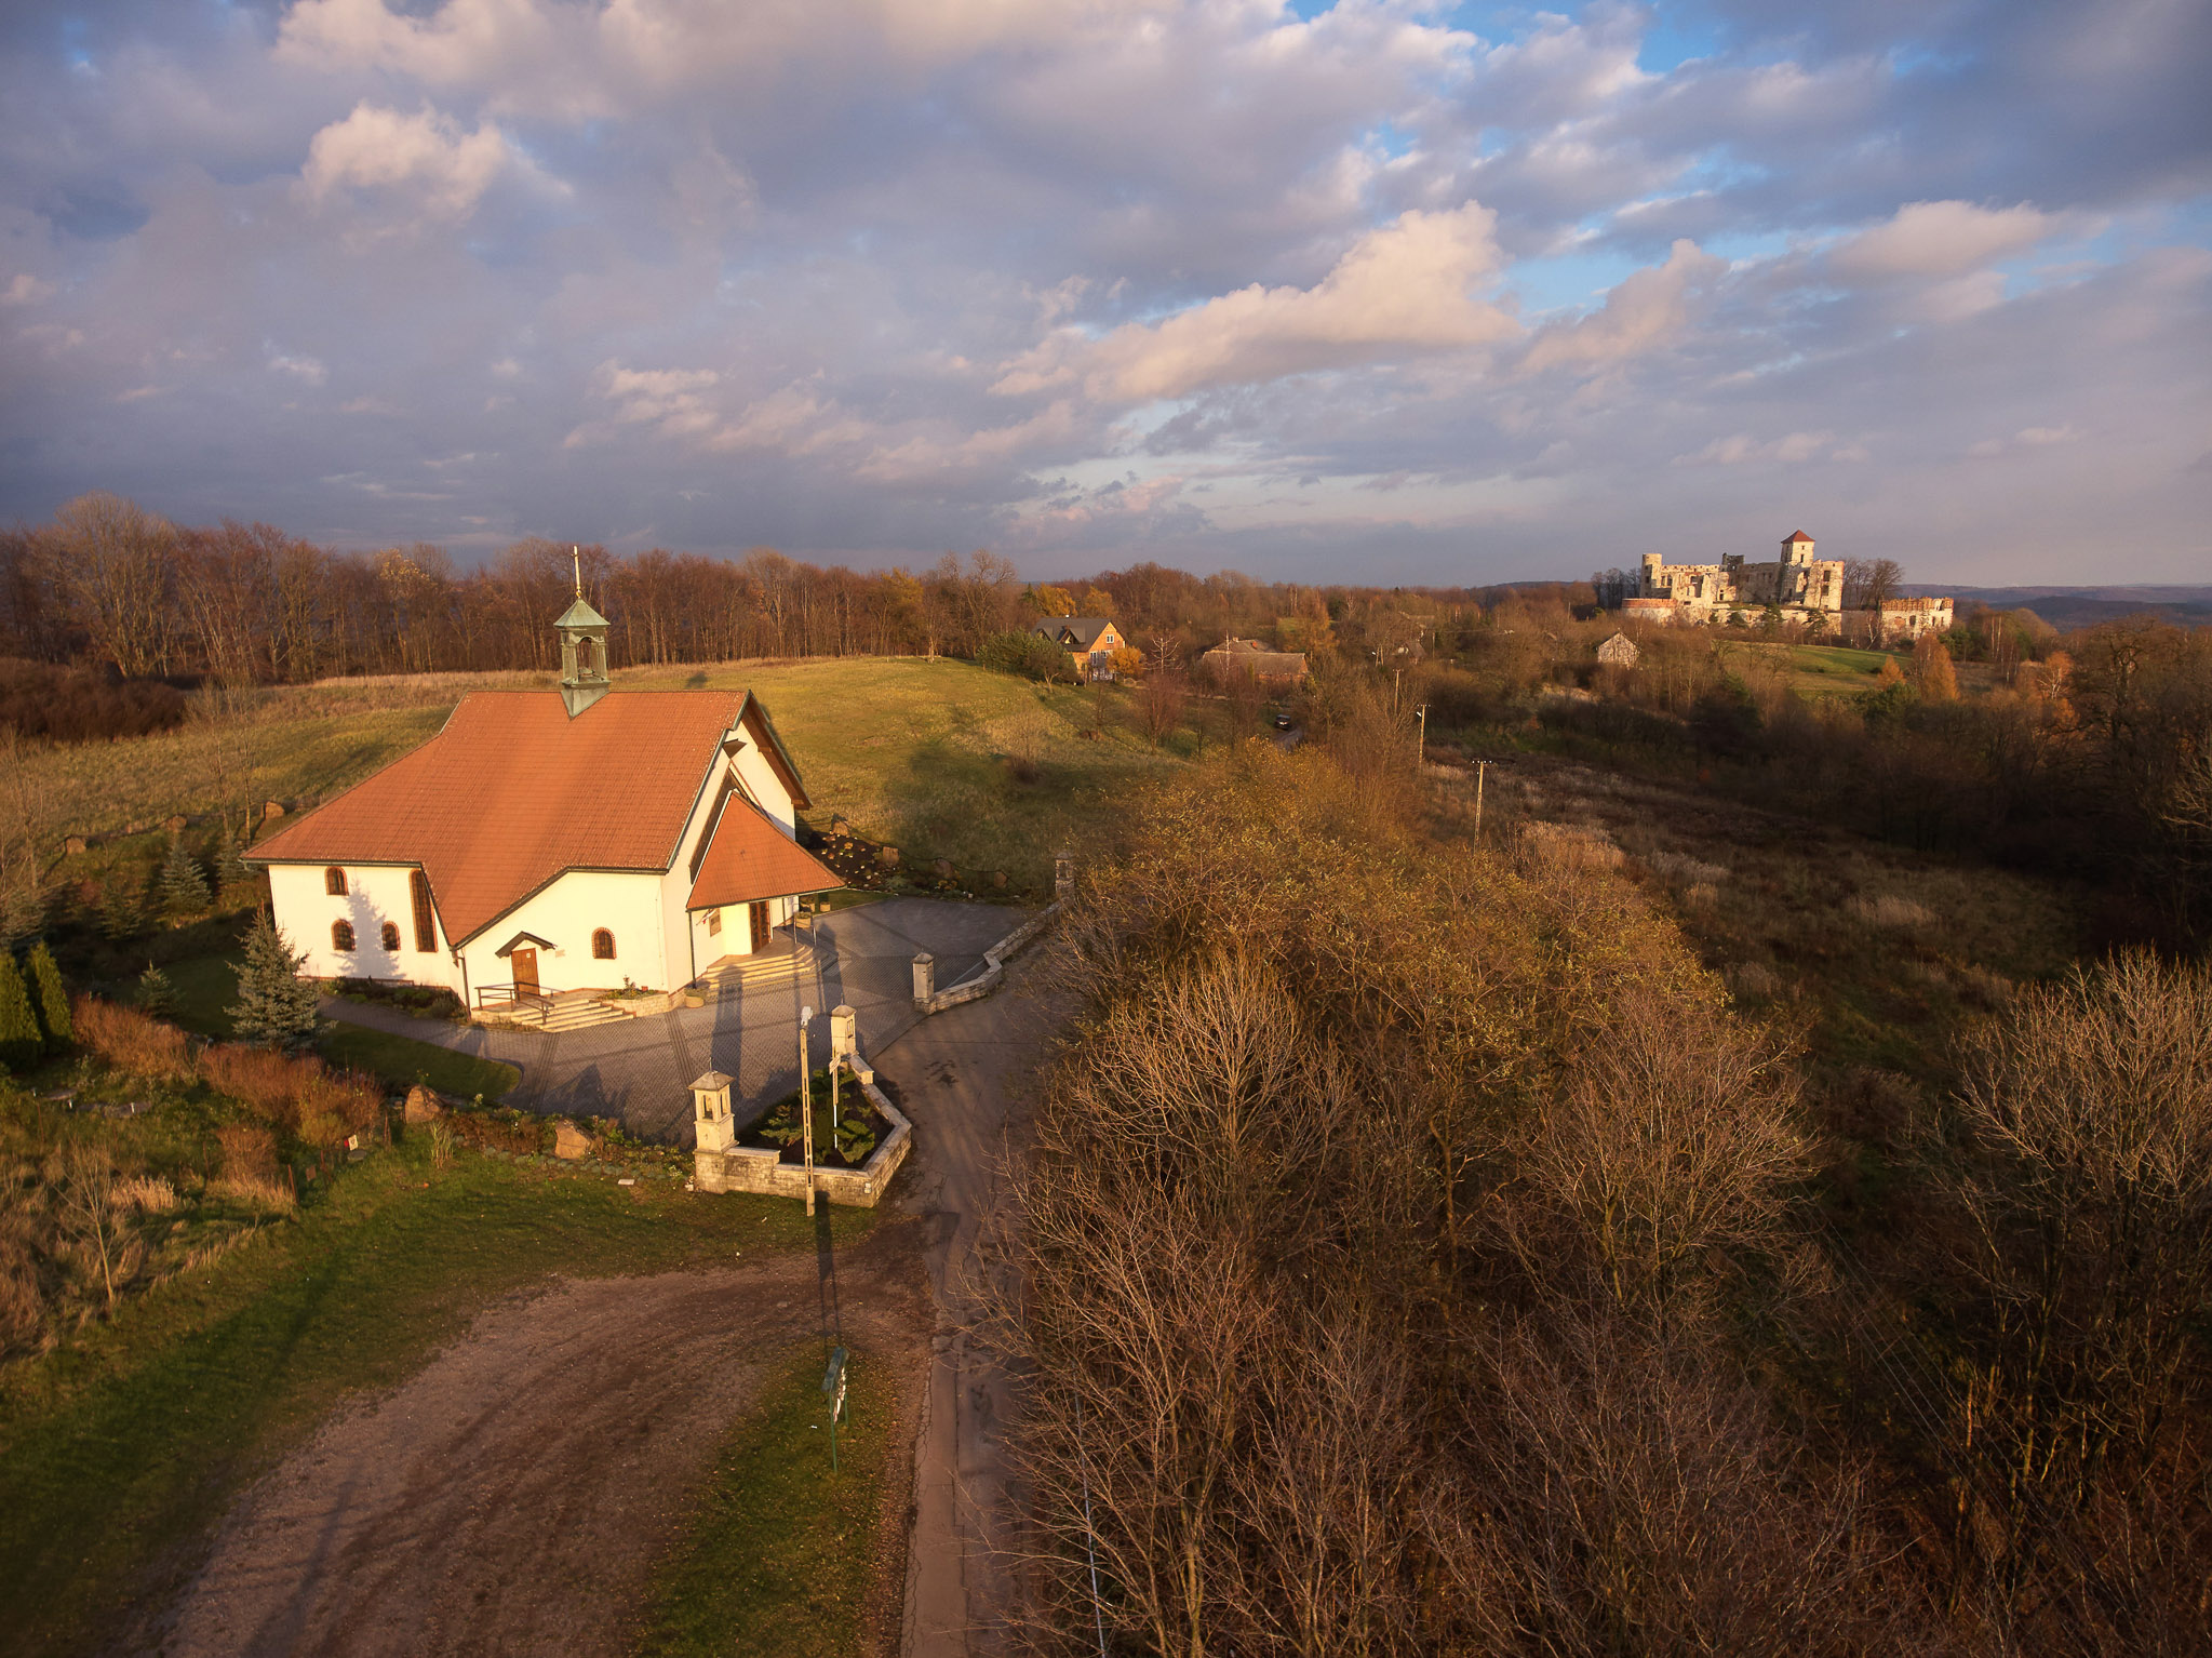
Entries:
{"label": "grey paved courtyard in front of the white church", "polygon": [[[993,903],[887,899],[818,916],[814,970],[757,985],[706,1007],[679,1007],[657,1018],[626,1018],[577,1032],[487,1029],[411,1018],[392,1007],[323,1003],[330,1018],[414,1036],[438,1047],[507,1060],[522,1069],[509,1105],[533,1111],[619,1118],[637,1136],[690,1140],[690,1080],[701,1071],[737,1078],[732,1096],[765,1105],[799,1087],[799,1009],[816,1014],[849,1003],[860,1020],[860,1049],[889,1047],[914,1012],[914,956],[938,963],[938,987],[982,967],[982,952],[1031,912]],[[814,1063],[830,1060],[830,1023],[814,1025]]]}

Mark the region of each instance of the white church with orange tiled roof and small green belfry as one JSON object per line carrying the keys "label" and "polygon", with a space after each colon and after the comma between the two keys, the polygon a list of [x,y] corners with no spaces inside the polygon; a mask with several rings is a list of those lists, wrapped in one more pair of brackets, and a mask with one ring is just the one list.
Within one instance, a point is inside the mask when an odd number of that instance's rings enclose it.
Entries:
{"label": "white church with orange tiled roof and small green belfry", "polygon": [[276,925],[319,978],[675,989],[841,885],[799,846],[799,768],[752,693],[613,691],[606,618],[555,622],[560,691],[480,691],[279,835]]}

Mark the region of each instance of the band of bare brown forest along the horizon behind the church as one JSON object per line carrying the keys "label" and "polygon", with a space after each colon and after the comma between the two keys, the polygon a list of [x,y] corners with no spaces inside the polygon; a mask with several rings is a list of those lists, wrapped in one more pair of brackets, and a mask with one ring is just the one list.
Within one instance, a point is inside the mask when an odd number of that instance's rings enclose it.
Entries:
{"label": "band of bare brown forest along the horizon behind the church", "polygon": [[[1298,589],[1159,564],[1031,587],[991,553],[927,569],[816,567],[772,549],[710,558],[582,549],[615,666],[821,655],[975,655],[1037,615],[1108,613],[1170,669],[1223,635],[1323,640],[1387,655],[1464,624],[1480,595]],[[551,669],[571,547],[520,540],[482,569],[442,547],[338,553],[270,525],[190,529],[119,496],[0,533],[0,657],[126,680],[281,684],[341,673]],[[1290,644],[1287,649],[1307,649]]]}

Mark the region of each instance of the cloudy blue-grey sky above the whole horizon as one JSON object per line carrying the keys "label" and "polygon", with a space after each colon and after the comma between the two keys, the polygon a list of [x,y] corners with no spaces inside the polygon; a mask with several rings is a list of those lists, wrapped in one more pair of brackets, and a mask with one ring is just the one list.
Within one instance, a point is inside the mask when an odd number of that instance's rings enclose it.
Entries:
{"label": "cloudy blue-grey sky above the whole horizon", "polygon": [[2212,4],[0,9],[0,520],[2212,582]]}

